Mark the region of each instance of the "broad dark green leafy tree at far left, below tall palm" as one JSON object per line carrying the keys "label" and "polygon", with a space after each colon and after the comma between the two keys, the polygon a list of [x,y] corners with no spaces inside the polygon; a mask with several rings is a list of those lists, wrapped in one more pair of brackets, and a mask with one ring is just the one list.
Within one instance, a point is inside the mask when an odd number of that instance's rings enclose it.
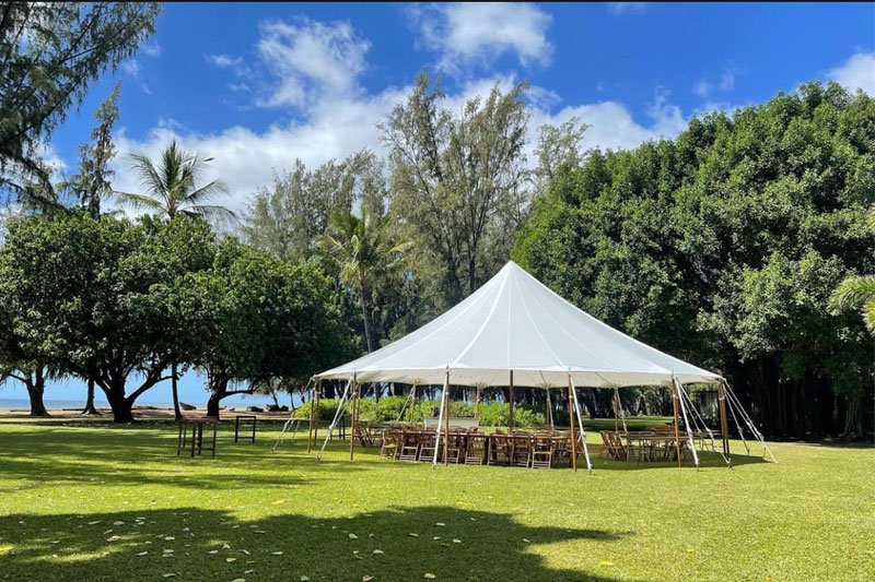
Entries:
{"label": "broad dark green leafy tree at far left, below tall palm", "polygon": [[131,421],[133,403],[186,347],[154,296],[213,256],[205,221],[14,219],[0,247],[0,309],[28,360],[93,380],[114,419]]}

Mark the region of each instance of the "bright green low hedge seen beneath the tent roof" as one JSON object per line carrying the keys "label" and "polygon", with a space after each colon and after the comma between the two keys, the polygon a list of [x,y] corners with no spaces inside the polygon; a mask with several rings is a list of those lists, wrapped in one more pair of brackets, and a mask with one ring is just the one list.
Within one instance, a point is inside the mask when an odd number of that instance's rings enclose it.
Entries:
{"label": "bright green low hedge seen beneath the tent roof", "polygon": [[[407,396],[385,396],[375,401],[363,399],[361,403],[362,420],[376,420],[380,423],[393,423],[398,419]],[[330,423],[337,413],[337,399],[323,399],[319,401],[318,418],[322,421]],[[295,412],[296,418],[310,418],[311,403],[306,402]],[[415,417],[421,421],[427,417],[433,416],[440,408],[438,401],[418,401]],[[475,405],[470,402],[451,402],[451,416],[474,416]],[[503,402],[487,402],[480,407],[480,426],[508,426],[508,415],[510,406]],[[406,409],[402,420],[410,418],[410,409]],[[533,411],[526,406],[514,408],[514,424],[517,427],[541,426],[547,423],[544,413]]]}

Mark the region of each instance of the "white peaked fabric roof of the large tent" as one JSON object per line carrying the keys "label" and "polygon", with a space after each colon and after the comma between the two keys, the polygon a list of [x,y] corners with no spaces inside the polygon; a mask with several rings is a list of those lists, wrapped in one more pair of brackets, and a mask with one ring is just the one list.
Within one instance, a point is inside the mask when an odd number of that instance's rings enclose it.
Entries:
{"label": "white peaked fabric roof of the large tent", "polygon": [[513,261],[397,342],[316,378],[453,385],[626,387],[720,379],[578,309]]}

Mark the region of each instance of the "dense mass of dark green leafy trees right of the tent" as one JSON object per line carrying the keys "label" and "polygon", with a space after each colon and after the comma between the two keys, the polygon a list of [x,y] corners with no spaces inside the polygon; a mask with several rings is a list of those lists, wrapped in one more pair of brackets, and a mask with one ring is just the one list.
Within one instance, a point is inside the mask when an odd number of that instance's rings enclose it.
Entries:
{"label": "dense mass of dark green leafy trees right of the tent", "polygon": [[829,297],[875,270],[875,102],[807,84],[676,140],[593,152],[514,258],[594,316],[722,370],[773,436],[862,436],[873,344]]}

